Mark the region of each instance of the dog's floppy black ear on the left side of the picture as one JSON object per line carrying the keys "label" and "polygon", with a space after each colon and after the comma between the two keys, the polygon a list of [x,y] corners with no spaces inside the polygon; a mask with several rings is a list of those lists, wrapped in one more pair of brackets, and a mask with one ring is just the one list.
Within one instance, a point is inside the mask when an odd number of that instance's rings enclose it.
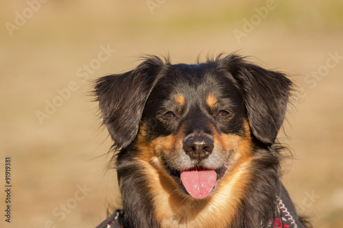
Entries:
{"label": "dog's floppy black ear on the left side of the picture", "polygon": [[127,147],[137,135],[145,101],[154,86],[163,61],[152,56],[137,68],[95,81],[103,123],[117,148]]}

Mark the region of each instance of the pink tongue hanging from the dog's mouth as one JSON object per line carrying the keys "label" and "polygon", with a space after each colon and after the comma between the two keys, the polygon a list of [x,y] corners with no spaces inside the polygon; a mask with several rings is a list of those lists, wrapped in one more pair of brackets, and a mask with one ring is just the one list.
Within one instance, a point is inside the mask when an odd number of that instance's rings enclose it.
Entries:
{"label": "pink tongue hanging from the dog's mouth", "polygon": [[217,173],[214,170],[183,171],[180,177],[187,192],[196,199],[208,197],[217,181]]}

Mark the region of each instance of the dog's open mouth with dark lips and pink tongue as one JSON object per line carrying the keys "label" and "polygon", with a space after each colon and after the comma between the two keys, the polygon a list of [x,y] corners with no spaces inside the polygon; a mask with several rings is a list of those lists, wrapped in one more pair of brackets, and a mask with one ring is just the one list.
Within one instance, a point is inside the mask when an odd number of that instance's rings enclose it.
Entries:
{"label": "dog's open mouth with dark lips and pink tongue", "polygon": [[168,168],[171,176],[180,178],[182,186],[191,197],[204,199],[211,194],[217,180],[224,176],[227,170],[227,164],[224,164],[224,166],[216,170],[195,166],[194,168],[180,172],[169,166]]}

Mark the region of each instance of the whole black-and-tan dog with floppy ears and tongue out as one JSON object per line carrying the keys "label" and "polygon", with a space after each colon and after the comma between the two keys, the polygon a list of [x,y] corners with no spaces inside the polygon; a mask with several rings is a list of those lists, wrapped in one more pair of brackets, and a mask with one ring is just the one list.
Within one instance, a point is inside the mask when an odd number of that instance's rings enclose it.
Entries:
{"label": "whole black-and-tan dog with floppy ears and tongue out", "polygon": [[236,53],[97,79],[123,203],[98,227],[310,227],[280,180],[292,88]]}

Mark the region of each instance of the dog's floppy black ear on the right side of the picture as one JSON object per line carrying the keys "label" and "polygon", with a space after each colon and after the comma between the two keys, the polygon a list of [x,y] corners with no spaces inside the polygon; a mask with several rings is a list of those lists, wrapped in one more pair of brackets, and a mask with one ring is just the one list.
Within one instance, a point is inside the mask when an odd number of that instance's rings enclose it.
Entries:
{"label": "dog's floppy black ear on the right side of the picture", "polygon": [[283,73],[268,71],[239,55],[228,55],[219,62],[243,97],[252,134],[261,142],[274,143],[285,118],[292,82]]}

